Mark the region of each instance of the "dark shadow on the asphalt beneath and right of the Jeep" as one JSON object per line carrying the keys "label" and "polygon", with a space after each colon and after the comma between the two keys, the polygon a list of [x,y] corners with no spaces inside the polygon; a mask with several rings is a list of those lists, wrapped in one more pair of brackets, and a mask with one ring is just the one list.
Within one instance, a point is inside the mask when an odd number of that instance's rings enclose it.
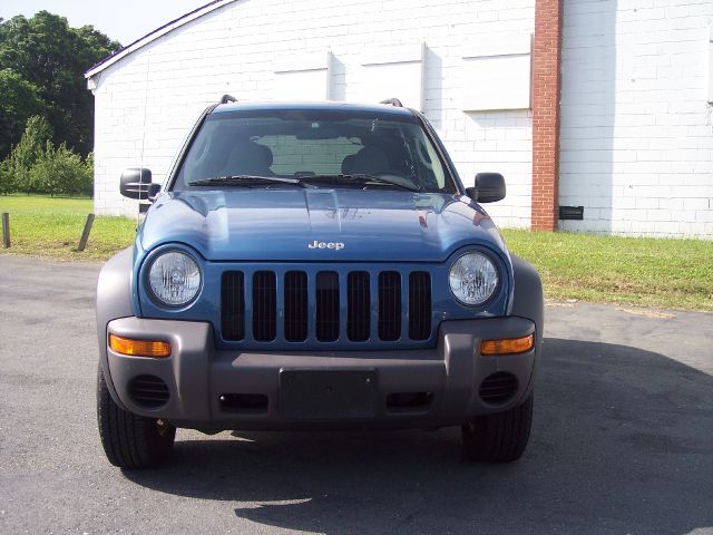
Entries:
{"label": "dark shadow on the asphalt beneath and right of the Jeep", "polygon": [[305,532],[684,534],[713,526],[711,392],[658,353],[546,339],[518,463],[463,460],[458,429],[237,432],[125,476]]}

